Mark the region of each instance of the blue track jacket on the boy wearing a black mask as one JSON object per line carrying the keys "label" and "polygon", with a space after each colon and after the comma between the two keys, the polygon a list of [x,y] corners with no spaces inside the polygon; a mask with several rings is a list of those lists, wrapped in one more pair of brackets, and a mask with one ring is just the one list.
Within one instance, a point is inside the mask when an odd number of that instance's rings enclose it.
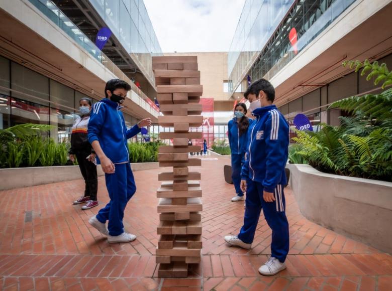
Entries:
{"label": "blue track jacket on the boy wearing a black mask", "polygon": [[137,124],[127,129],[121,108],[117,102],[102,99],[93,105],[88,122],[88,141],[98,140],[113,164],[129,162],[127,139],[141,131]]}

